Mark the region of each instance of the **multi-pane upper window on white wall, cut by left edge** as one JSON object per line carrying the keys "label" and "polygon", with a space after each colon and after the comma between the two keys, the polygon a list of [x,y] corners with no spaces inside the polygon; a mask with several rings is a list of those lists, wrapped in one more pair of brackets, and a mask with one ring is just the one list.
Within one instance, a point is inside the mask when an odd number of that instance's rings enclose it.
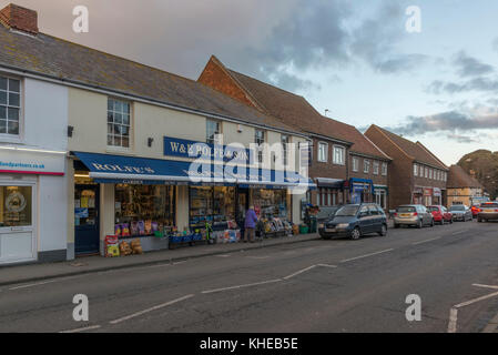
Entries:
{"label": "multi-pane upper window on white wall, cut by left edge", "polygon": [[21,82],[0,77],[0,134],[19,135]]}

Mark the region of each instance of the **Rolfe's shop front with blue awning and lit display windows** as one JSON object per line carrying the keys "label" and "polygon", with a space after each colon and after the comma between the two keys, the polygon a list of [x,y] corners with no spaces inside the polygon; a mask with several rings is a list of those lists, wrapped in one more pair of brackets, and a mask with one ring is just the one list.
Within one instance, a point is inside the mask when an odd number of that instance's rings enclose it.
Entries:
{"label": "Rolfe's shop front with blue awning and lit display windows", "polygon": [[[172,235],[207,240],[223,232],[225,240],[233,241],[243,233],[245,211],[251,204],[262,219],[292,219],[288,189],[295,183],[277,182],[274,171],[255,170],[224,179],[215,172],[218,166],[192,170],[191,162],[185,161],[83,152],[74,152],[74,156],[87,166],[87,172],[77,171],[80,176],[87,174],[85,193],[91,184],[96,186],[91,203],[75,199],[75,242],[84,244],[78,229],[88,224],[88,217],[79,220],[78,213],[94,216],[91,225],[99,229],[100,253],[109,234],[120,241],[140,239],[145,252],[171,246],[169,242],[176,240]],[[100,211],[92,212],[90,205]]]}

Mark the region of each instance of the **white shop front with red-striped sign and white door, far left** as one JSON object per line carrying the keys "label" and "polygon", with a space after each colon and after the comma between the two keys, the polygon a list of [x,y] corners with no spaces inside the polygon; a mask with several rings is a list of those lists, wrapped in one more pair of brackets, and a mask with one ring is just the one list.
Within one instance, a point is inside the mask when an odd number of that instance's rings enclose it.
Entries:
{"label": "white shop front with red-striped sign and white door, far left", "polygon": [[0,150],[0,264],[65,260],[63,176],[63,152]]}

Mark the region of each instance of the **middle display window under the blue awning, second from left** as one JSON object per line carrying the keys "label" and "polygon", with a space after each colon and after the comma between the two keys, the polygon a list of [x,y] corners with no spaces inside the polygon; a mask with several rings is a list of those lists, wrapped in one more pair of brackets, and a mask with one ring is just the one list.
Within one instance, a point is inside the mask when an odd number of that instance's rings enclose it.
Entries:
{"label": "middle display window under the blue awning, second from left", "polygon": [[205,223],[235,221],[235,187],[191,186],[190,225],[202,229]]}

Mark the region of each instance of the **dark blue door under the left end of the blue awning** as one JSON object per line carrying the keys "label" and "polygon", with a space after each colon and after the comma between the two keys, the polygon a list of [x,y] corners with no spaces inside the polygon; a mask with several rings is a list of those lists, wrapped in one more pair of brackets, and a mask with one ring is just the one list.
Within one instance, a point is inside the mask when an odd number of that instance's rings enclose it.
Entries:
{"label": "dark blue door under the left end of the blue awning", "polygon": [[100,251],[99,185],[74,187],[74,252],[77,255]]}

